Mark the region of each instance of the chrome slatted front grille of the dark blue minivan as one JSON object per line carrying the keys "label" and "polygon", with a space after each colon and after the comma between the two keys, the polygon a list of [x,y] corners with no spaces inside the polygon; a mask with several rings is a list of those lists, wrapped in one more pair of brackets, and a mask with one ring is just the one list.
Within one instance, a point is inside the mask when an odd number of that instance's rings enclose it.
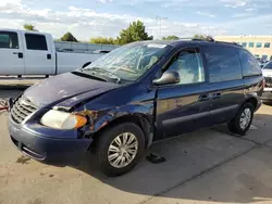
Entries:
{"label": "chrome slatted front grille of the dark blue minivan", "polygon": [[28,115],[34,113],[37,110],[37,106],[32,103],[28,99],[23,97],[18,98],[11,109],[12,119],[21,124]]}

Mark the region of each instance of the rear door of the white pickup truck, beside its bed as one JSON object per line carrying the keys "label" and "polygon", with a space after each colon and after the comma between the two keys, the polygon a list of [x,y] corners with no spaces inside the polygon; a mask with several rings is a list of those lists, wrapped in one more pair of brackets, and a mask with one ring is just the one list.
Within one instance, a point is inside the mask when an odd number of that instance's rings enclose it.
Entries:
{"label": "rear door of the white pickup truck, beside its bed", "polygon": [[25,75],[51,75],[55,63],[45,35],[25,34]]}

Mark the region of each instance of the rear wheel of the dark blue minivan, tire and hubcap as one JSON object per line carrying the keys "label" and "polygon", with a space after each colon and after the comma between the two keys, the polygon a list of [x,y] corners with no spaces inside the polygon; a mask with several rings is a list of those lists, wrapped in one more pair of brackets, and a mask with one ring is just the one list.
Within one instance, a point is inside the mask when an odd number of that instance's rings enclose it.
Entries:
{"label": "rear wheel of the dark blue minivan, tire and hubcap", "polygon": [[[243,126],[240,124],[240,119],[243,116],[245,116],[245,110],[249,110],[250,113],[248,113],[248,111],[246,111],[248,114],[250,114],[250,118],[248,119],[248,123],[244,124],[245,126]],[[245,118],[245,117],[244,117]],[[247,130],[250,128],[251,123],[254,119],[254,105],[252,103],[245,103],[239,111],[237,112],[236,116],[227,124],[228,129],[233,132],[233,133],[237,133],[240,137],[245,136]]]}

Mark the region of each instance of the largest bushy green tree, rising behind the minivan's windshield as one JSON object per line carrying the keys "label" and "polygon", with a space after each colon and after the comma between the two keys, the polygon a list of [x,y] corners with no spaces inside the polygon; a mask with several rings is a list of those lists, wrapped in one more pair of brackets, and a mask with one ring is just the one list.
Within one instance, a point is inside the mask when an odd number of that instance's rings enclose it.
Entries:
{"label": "largest bushy green tree, rising behind the minivan's windshield", "polygon": [[140,41],[140,40],[152,40],[152,36],[148,36],[146,33],[146,27],[143,22],[137,21],[129,24],[129,26],[126,29],[123,29],[120,33],[120,36],[118,37],[116,41],[119,44],[125,44],[134,41]]}

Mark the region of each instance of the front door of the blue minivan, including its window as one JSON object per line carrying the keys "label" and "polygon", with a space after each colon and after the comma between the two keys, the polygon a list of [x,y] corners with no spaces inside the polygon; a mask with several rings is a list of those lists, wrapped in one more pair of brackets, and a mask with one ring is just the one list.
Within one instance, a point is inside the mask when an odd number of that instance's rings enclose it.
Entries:
{"label": "front door of the blue minivan, including its window", "polygon": [[209,126],[209,86],[199,48],[177,53],[165,71],[175,71],[181,81],[158,87],[156,140]]}

